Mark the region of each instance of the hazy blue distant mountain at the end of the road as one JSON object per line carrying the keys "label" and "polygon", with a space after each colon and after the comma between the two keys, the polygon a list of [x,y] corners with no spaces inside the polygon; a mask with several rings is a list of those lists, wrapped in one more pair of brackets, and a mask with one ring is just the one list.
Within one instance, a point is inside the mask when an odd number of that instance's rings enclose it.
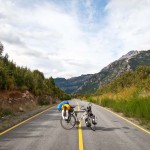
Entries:
{"label": "hazy blue distant mountain at the end of the road", "polygon": [[88,75],[81,75],[79,77],[73,77],[73,78],[70,78],[70,79],[55,78],[54,82],[64,92],[70,94],[70,93],[74,93],[91,76],[92,76],[91,74],[88,74]]}

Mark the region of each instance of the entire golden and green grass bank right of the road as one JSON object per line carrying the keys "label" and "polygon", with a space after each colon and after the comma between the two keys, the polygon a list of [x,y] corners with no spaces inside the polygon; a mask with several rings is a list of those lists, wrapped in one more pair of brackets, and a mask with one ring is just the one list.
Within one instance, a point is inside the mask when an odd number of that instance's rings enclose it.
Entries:
{"label": "entire golden and green grass bank right of the road", "polygon": [[150,128],[150,96],[146,92],[143,94],[139,89],[129,88],[120,93],[89,96],[87,100],[133,117]]}

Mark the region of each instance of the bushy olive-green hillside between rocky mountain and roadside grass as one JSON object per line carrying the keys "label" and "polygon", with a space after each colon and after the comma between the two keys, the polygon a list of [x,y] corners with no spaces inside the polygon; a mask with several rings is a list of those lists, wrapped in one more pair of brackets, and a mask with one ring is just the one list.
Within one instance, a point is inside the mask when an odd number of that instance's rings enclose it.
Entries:
{"label": "bushy olive-green hillside between rocky mountain and roadside grass", "polygon": [[[140,93],[142,94],[143,91],[146,96],[146,94],[150,92],[150,66],[138,66],[135,71],[125,72],[109,84],[98,89],[96,94],[116,94],[125,91],[126,98],[127,96],[136,97]],[[130,92],[128,93],[127,91]],[[120,95],[119,97],[123,98],[123,95]]]}

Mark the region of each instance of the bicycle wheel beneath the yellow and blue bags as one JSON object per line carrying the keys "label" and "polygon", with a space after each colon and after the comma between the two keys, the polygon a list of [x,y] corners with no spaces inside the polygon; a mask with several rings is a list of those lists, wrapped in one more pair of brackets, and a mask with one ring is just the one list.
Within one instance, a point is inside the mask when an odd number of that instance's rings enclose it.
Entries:
{"label": "bicycle wheel beneath the yellow and blue bags", "polygon": [[70,115],[70,116],[68,117],[68,119],[63,119],[63,118],[61,117],[61,119],[60,119],[60,124],[61,124],[61,126],[62,126],[64,129],[70,130],[70,129],[72,129],[72,128],[75,126],[75,124],[76,124],[76,118],[75,118],[74,115]]}

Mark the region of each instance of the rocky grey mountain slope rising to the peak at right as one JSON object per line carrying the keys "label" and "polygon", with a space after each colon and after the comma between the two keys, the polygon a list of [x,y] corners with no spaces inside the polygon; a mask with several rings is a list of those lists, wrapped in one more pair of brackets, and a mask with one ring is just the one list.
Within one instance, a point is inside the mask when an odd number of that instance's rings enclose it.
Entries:
{"label": "rocky grey mountain slope rising to the peak at right", "polygon": [[150,66],[150,50],[128,52],[99,73],[92,75],[75,93],[95,93],[103,85],[110,83],[126,71],[135,70],[139,65]]}

